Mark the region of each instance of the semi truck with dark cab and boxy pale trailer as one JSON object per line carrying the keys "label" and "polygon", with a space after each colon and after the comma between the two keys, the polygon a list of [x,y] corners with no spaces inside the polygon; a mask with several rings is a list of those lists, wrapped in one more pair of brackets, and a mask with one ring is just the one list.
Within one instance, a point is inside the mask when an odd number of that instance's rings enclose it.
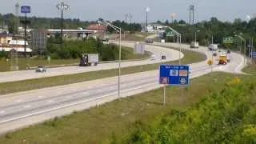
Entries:
{"label": "semi truck with dark cab and boxy pale trailer", "polygon": [[97,66],[98,54],[81,54],[79,66]]}

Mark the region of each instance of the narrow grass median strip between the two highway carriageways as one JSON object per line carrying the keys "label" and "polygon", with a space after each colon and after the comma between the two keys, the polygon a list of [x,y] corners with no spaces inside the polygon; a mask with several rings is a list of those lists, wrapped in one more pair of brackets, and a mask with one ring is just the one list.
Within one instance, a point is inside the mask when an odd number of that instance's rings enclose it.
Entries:
{"label": "narrow grass median strip between the two highway carriageways", "polygon": [[[200,62],[205,60],[205,56],[193,51],[183,50],[185,57],[182,58],[182,64],[192,62]],[[167,62],[169,64],[178,64],[178,61]],[[150,64],[145,66],[131,66],[122,68],[122,74],[134,74],[142,71],[158,70],[159,64]],[[36,90],[39,88],[62,86],[77,82],[86,82],[99,78],[108,78],[118,75],[118,69],[113,70],[99,70],[93,72],[86,72],[81,74],[68,74],[48,78],[37,78],[18,82],[2,82],[0,83],[0,94],[10,94],[19,91]]]}

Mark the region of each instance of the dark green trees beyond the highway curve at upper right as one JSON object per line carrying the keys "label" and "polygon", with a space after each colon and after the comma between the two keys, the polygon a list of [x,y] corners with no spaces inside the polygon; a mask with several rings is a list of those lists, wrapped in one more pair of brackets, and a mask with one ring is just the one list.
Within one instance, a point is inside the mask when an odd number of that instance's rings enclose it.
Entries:
{"label": "dark green trees beyond the highway curve at upper right", "polygon": [[[184,21],[174,21],[170,23],[160,22],[159,24],[170,26],[182,34],[182,42],[190,43],[195,39],[195,33],[197,34],[197,41],[200,45],[207,46],[211,43],[213,36],[214,43],[223,47],[237,47],[240,45],[240,39],[242,38],[255,38],[256,37],[256,18],[251,19],[249,22],[242,21],[240,18],[234,19],[234,22],[221,22],[218,18],[210,18],[210,21],[198,22],[194,25],[185,24]],[[223,43],[223,38],[233,38],[233,43]],[[168,41],[173,41],[173,38],[169,38]],[[246,42],[249,43],[249,40]]]}

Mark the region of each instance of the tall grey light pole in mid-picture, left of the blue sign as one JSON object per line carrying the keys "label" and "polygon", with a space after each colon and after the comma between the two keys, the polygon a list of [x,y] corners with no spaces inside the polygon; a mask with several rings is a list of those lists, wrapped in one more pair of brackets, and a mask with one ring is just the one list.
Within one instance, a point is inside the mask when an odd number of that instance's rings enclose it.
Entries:
{"label": "tall grey light pole in mid-picture, left of the blue sign", "polygon": [[98,23],[103,23],[105,24],[106,26],[110,26],[112,29],[116,30],[118,33],[119,33],[119,60],[118,60],[118,98],[120,98],[120,89],[121,89],[121,32],[122,32],[122,29],[118,26],[114,26],[113,24],[111,24],[110,22],[101,22],[101,21],[98,21]]}

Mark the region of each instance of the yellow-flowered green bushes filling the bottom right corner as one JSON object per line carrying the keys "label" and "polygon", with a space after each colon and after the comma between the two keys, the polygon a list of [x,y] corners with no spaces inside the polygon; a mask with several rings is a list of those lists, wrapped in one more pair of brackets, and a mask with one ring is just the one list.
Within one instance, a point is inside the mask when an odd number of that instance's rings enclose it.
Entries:
{"label": "yellow-flowered green bushes filling the bottom right corner", "polygon": [[156,126],[137,124],[125,143],[255,143],[256,82],[227,82],[189,110],[171,110]]}

